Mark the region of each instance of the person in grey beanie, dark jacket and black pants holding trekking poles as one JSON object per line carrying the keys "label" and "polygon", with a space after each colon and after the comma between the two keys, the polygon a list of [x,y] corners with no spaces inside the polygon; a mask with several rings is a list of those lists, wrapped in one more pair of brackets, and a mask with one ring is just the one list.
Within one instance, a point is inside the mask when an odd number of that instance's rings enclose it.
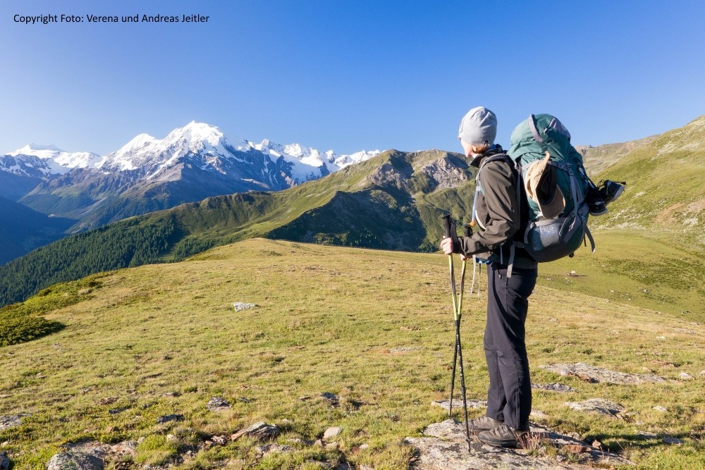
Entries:
{"label": "person in grey beanie, dark jacket and black pants holding trekking poles", "polygon": [[[532,406],[529,359],[525,344],[528,298],[537,280],[537,262],[511,240],[525,226],[517,197],[517,173],[502,147],[495,144],[497,118],[482,106],[473,108],[460,121],[458,140],[478,168],[473,220],[479,229],[460,237],[458,246],[444,238],[444,254],[459,253],[461,259],[472,255],[489,262],[487,269],[487,320],[484,350],[489,369],[487,412],[469,423],[483,443],[498,447],[517,447],[529,432]],[[508,242],[509,243],[505,243]],[[513,255],[513,256],[512,256]],[[509,272],[508,272],[509,271]]]}

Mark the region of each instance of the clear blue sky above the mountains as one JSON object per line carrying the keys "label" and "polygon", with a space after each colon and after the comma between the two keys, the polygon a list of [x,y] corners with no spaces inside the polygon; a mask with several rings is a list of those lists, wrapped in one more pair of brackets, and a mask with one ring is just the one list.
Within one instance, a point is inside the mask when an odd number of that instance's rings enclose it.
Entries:
{"label": "clear blue sky above the mountains", "polygon": [[[84,22],[13,20],[61,13]],[[85,20],[136,13],[209,20]],[[575,144],[634,140],[705,114],[703,18],[694,0],[4,0],[0,153],[105,154],[190,120],[338,154],[460,151],[458,122],[478,105],[497,113],[500,143],[543,112]]]}

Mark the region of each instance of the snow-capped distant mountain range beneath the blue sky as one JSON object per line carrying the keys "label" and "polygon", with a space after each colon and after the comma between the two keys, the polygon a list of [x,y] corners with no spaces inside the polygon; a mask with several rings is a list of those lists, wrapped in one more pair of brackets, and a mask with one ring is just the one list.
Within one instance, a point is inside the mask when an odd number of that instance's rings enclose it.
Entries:
{"label": "snow-capped distant mountain range beneath the blue sky", "polygon": [[[379,151],[336,155],[269,140],[255,144],[192,122],[161,140],[137,135],[103,156],[29,144],[0,156],[0,197],[72,219],[66,231],[75,233],[210,196],[283,190],[376,154]],[[45,240],[31,234],[25,238]],[[0,240],[0,246],[5,241]],[[31,249],[39,246],[36,243],[23,246]],[[15,256],[15,251],[0,248],[0,264]]]}

